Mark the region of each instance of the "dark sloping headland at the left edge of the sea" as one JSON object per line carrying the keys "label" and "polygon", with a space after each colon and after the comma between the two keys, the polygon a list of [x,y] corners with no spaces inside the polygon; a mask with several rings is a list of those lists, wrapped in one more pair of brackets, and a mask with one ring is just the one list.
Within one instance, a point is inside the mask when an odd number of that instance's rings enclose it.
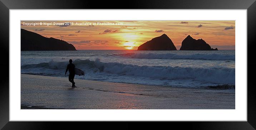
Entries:
{"label": "dark sloping headland at the left edge of the sea", "polygon": [[72,44],[63,40],[47,38],[24,29],[20,33],[21,51],[76,51]]}

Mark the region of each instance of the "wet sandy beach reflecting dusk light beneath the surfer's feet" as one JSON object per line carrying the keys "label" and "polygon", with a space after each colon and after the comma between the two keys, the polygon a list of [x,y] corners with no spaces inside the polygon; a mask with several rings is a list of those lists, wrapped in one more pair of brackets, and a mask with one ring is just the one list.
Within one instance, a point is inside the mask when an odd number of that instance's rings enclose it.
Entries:
{"label": "wet sandy beach reflecting dusk light beneath the surfer's feet", "polygon": [[21,109],[235,109],[235,90],[74,81],[21,74]]}

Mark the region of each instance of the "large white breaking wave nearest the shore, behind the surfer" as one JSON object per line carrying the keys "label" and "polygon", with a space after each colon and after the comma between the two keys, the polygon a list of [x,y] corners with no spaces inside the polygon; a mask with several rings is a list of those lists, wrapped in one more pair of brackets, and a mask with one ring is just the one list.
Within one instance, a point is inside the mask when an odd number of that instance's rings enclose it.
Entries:
{"label": "large white breaking wave nearest the shore, behind the surfer", "polygon": [[[149,53],[150,54],[150,53]],[[151,79],[172,80],[172,79],[191,79],[202,83],[216,84],[235,84],[235,68],[191,68],[191,67],[170,67],[170,66],[136,66],[123,63],[105,63],[98,58],[95,61],[89,59],[76,59],[73,62],[76,67],[85,71],[85,73],[117,74],[120,76],[137,76]],[[21,70],[50,69],[58,71],[67,67],[67,62],[55,62],[51,60],[48,63],[26,64],[21,66]],[[63,74],[62,70],[60,70]]]}

